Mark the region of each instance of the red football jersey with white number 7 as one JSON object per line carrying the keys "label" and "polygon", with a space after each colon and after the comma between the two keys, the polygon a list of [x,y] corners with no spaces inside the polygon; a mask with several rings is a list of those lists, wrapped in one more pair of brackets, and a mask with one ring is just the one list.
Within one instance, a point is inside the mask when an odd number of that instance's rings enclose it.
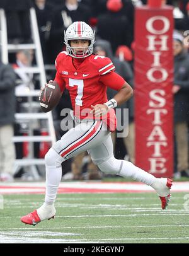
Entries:
{"label": "red football jersey with white number 7", "polygon": [[[114,73],[112,61],[103,56],[91,54],[84,59],[74,59],[67,52],[60,52],[55,61],[57,73],[55,81],[61,91],[66,88],[71,96],[74,115],[79,119],[94,119],[91,105],[103,104],[108,101],[107,86],[120,90],[125,80]],[[111,109],[101,119],[105,120],[110,131],[116,129],[115,111]]]}

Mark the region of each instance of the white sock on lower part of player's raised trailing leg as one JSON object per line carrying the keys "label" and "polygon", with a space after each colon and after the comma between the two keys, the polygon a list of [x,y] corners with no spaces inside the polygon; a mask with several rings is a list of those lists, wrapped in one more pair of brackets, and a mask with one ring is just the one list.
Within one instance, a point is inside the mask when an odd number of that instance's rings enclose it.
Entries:
{"label": "white sock on lower part of player's raised trailing leg", "polygon": [[133,163],[125,160],[120,161],[122,161],[122,163],[120,163],[122,169],[120,173],[117,173],[118,175],[122,177],[130,177],[133,180],[137,180],[137,182],[143,182],[150,186],[156,181],[156,177],[135,166]]}

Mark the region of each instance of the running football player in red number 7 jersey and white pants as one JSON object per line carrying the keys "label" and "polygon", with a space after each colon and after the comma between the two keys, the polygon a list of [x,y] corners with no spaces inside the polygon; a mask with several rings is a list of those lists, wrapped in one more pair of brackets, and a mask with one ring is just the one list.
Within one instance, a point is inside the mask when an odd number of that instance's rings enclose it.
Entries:
{"label": "running football player in red number 7 jersey and white pants", "polygon": [[[129,100],[132,88],[114,72],[111,59],[93,54],[95,33],[89,25],[83,21],[72,23],[64,38],[66,52],[60,52],[57,56],[54,81],[62,92],[65,88],[69,90],[77,125],[45,155],[45,202],[37,210],[23,216],[21,221],[35,225],[54,218],[54,203],[62,177],[61,163],[86,150],[102,172],[130,177],[150,185],[159,195],[162,209],[165,209],[170,199],[172,180],[155,178],[129,161],[118,160],[113,155],[110,136],[110,132],[116,129],[113,108]],[[106,97],[107,86],[118,91],[109,101]]]}

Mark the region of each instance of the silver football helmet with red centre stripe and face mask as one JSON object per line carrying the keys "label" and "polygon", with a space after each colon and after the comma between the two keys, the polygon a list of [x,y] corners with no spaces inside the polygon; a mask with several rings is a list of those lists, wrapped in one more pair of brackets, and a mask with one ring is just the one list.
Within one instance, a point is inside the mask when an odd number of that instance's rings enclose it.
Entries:
{"label": "silver football helmet with red centre stripe and face mask", "polygon": [[[80,47],[71,47],[70,40],[89,40],[90,45],[84,47],[83,54],[76,54],[76,50]],[[66,44],[66,52],[74,58],[88,57],[93,53],[93,44],[95,43],[95,32],[84,21],[76,21],[72,23],[64,32],[64,44]]]}

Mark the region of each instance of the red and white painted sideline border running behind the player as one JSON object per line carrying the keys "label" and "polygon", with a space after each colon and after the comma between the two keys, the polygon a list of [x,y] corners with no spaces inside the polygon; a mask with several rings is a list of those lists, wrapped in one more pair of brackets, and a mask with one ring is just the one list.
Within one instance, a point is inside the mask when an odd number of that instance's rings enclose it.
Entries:
{"label": "red and white painted sideline border running behind the player", "polygon": [[[154,192],[151,187],[137,182],[62,182],[59,194],[71,193],[141,193]],[[189,182],[175,182],[171,192],[189,192]],[[45,194],[45,183],[1,183],[0,195]]]}

